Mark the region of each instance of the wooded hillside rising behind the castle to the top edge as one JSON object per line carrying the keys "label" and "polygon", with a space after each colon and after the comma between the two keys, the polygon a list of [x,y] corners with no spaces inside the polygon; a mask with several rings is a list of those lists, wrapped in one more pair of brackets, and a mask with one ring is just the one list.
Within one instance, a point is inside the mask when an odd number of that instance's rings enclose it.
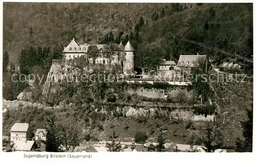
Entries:
{"label": "wooded hillside rising behind the castle to the top edge", "polygon": [[4,51],[17,64],[23,47],[78,42],[124,43],[137,50],[137,66],[180,54],[227,56],[182,39],[227,52],[252,55],[252,4],[4,3]]}

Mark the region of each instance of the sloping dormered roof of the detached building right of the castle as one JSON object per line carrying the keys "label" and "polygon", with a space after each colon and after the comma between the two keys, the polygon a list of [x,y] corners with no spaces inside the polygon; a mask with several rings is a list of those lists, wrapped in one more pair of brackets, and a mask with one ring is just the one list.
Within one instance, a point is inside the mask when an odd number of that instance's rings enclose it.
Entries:
{"label": "sloping dormered roof of the detached building right of the castle", "polygon": [[206,57],[206,55],[181,55],[177,67],[198,67],[199,62],[204,62]]}

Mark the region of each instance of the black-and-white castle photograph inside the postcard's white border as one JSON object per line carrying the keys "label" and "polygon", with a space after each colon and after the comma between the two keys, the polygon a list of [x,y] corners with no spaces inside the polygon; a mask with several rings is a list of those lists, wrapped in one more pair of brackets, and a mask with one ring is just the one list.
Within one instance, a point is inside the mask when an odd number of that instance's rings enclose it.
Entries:
{"label": "black-and-white castle photograph inside the postcard's white border", "polygon": [[252,152],[252,3],[4,2],[2,17],[2,152]]}

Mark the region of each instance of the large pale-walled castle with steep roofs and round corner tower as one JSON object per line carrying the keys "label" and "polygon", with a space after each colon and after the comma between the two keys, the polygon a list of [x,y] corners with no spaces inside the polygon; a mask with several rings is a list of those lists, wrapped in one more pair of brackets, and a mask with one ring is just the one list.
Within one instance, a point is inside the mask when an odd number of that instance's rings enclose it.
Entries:
{"label": "large pale-walled castle with steep roofs and round corner tower", "polygon": [[[75,58],[80,58],[80,57],[86,57],[88,53],[88,48],[91,45],[95,45],[99,49],[99,56],[96,58],[96,60],[93,62],[92,59],[89,59],[91,63],[95,64],[103,64],[103,65],[115,65],[115,64],[120,64],[120,61],[118,61],[118,56],[115,54],[112,57],[111,63],[108,63],[109,60],[104,57],[104,52],[106,44],[78,44],[75,39],[69,43],[67,47],[64,47],[64,50],[62,51],[63,58],[66,60],[71,60]],[[118,44],[117,44],[118,45]],[[128,41],[126,45],[124,46],[122,42],[118,45],[119,50],[116,52],[123,53],[124,55],[124,61],[123,61],[123,72],[125,74],[131,74],[134,72],[134,54],[135,50]]]}

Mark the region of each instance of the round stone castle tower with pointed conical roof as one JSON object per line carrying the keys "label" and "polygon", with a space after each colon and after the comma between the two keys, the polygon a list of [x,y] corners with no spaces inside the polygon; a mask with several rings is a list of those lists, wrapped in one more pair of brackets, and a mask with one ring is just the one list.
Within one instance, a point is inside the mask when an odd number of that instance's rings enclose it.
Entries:
{"label": "round stone castle tower with pointed conical roof", "polygon": [[123,73],[124,74],[132,74],[134,71],[134,48],[130,41],[128,41],[123,48],[125,53],[125,61],[123,64]]}

